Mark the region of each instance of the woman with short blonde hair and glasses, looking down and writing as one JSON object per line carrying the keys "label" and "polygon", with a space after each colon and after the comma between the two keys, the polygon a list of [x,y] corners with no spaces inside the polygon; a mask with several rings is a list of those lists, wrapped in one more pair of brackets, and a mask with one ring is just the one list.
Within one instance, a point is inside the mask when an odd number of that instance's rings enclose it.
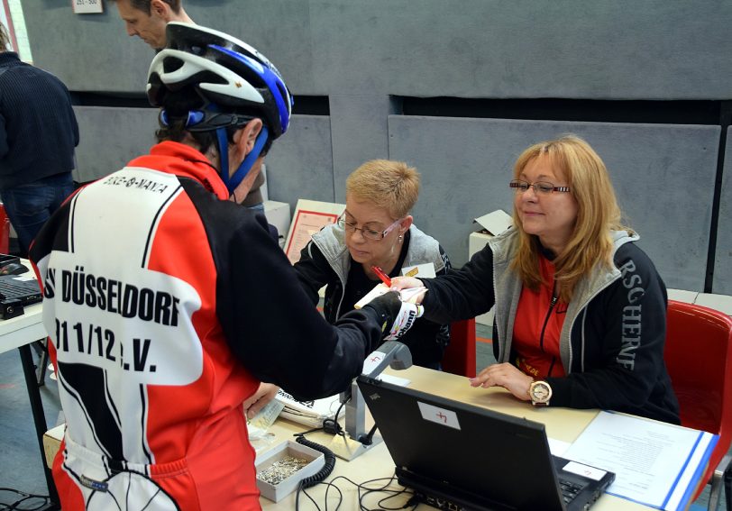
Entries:
{"label": "woman with short blonde hair and glasses, looking down and writing", "polygon": [[[432,276],[450,268],[440,244],[413,224],[410,212],[419,196],[414,167],[403,161],[367,161],[345,187],[345,212],[336,224],[313,235],[295,264],[314,304],[325,286],[323,312],[331,323],[381,282],[375,267],[389,277],[417,266]],[[439,369],[450,330],[444,323],[419,320],[399,341],[407,344],[415,364]]]}

